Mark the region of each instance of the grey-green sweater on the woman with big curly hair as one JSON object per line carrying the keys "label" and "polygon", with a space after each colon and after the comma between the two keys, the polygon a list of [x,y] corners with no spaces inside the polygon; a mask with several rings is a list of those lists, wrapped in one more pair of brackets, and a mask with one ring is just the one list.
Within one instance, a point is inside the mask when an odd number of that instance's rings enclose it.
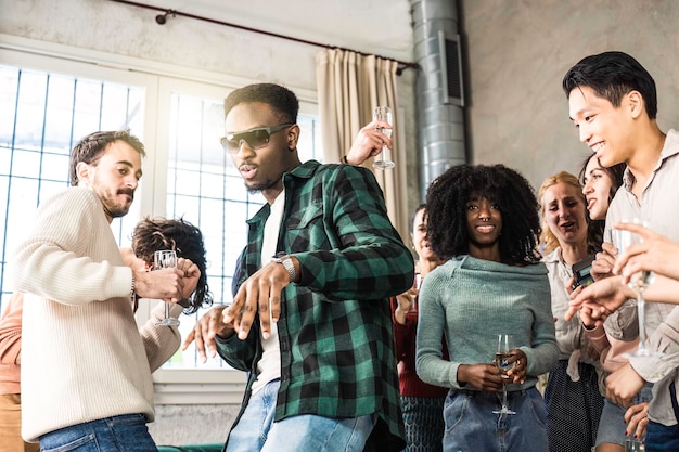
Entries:
{"label": "grey-green sweater on the woman with big curly hair", "polygon": [[[460,388],[459,365],[490,363],[498,334],[507,333],[528,360],[526,382],[508,389],[535,386],[559,357],[550,297],[542,263],[515,267],[471,256],[449,260],[427,275],[420,292],[418,375],[433,385]],[[440,358],[441,334],[449,361]]]}

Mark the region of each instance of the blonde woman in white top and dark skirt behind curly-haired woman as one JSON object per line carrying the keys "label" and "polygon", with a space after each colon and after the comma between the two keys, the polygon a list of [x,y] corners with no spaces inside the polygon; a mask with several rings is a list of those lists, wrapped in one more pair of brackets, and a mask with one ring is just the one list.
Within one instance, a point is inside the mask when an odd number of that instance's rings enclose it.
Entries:
{"label": "blonde woman in white top and dark skirt behind curly-haired woman", "polygon": [[538,198],[543,222],[542,260],[549,270],[560,349],[559,364],[550,372],[545,390],[550,451],[590,452],[603,409],[603,371],[580,319],[566,321],[564,315],[573,266],[595,253],[600,244],[589,241],[585,195],[574,175],[561,171],[548,177]]}

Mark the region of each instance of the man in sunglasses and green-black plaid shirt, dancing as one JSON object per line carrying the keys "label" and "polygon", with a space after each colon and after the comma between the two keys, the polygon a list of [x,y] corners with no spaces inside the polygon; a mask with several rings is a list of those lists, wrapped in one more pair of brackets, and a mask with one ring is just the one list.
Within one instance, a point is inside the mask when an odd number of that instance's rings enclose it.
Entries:
{"label": "man in sunglasses and green-black plaid shirt, dancing", "polygon": [[225,111],[225,150],[268,202],[248,220],[233,305],[184,343],[216,333],[249,372],[226,450],[400,451],[388,297],[410,287],[413,261],[382,191],[364,168],[302,164],[290,90],[252,85]]}

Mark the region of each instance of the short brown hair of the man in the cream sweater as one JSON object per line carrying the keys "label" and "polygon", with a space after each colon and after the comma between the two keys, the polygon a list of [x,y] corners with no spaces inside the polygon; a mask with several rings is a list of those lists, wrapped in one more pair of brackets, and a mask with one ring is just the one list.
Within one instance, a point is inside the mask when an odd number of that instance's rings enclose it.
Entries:
{"label": "short brown hair of the man in the cream sweater", "polygon": [[99,131],[90,133],[80,140],[71,152],[71,184],[78,184],[77,167],[80,162],[94,165],[101,158],[104,151],[111,143],[124,141],[134,148],[142,157],[146,156],[144,145],[137,137],[130,133],[129,129]]}

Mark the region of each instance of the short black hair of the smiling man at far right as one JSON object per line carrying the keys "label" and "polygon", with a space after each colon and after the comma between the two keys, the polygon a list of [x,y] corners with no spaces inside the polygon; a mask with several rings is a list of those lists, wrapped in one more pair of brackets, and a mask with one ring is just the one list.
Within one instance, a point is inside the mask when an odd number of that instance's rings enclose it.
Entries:
{"label": "short black hair of the smiling man at far right", "polygon": [[623,96],[636,90],[641,93],[651,119],[657,115],[657,93],[651,74],[625,52],[603,52],[586,56],[571,67],[562,81],[566,98],[579,87],[591,88],[613,106],[620,106]]}

